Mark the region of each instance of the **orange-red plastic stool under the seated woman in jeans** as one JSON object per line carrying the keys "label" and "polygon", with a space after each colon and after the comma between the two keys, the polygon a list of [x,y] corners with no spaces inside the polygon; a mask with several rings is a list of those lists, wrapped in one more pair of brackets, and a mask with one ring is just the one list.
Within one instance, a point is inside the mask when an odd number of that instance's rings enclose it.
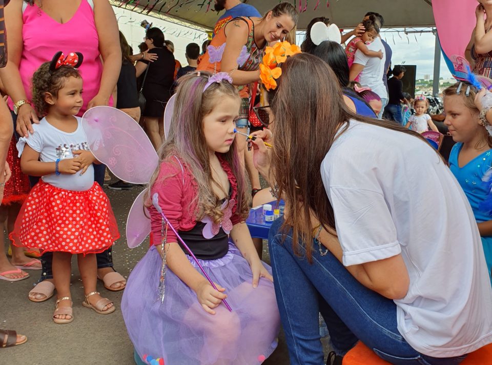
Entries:
{"label": "orange-red plastic stool under the seated woman in jeans", "polygon": [[[388,365],[370,348],[359,341],[356,346],[343,356],[343,365]],[[492,365],[492,343],[468,354],[461,365]]]}

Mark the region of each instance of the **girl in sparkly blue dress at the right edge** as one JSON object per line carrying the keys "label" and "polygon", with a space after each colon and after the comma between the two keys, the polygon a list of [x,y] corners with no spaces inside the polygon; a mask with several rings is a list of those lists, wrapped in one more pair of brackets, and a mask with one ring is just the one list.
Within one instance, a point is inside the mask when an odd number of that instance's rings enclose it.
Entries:
{"label": "girl in sparkly blue dress at the right edge", "polygon": [[490,188],[482,179],[492,167],[492,137],[479,118],[476,94],[476,89],[467,83],[457,83],[444,90],[444,124],[457,142],[449,155],[449,168],[473,209],[491,275],[492,212],[483,205]]}

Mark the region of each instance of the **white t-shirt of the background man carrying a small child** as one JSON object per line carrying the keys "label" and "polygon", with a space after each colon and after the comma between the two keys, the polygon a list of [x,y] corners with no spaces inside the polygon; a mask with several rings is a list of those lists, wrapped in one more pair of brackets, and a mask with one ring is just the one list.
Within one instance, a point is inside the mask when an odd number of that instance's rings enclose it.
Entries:
{"label": "white t-shirt of the background man carrying a small child", "polygon": [[371,51],[383,52],[383,58],[368,57],[361,50],[355,52],[354,64],[363,65],[364,69],[360,73],[360,85],[371,88],[382,99],[388,98],[388,92],[383,82],[384,63],[386,62],[386,54],[384,54],[384,46],[379,37],[376,37],[372,43],[367,45]]}

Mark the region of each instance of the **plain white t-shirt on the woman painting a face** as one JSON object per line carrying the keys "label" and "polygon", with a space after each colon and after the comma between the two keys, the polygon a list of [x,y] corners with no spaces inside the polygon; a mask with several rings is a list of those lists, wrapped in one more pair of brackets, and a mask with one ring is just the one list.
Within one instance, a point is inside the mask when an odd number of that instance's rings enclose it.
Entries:
{"label": "plain white t-shirt on the woman painting a face", "polygon": [[453,357],[492,342],[492,288],[468,200],[415,136],[351,120],[321,165],[343,265],[401,253],[410,285],[398,330],[417,351]]}

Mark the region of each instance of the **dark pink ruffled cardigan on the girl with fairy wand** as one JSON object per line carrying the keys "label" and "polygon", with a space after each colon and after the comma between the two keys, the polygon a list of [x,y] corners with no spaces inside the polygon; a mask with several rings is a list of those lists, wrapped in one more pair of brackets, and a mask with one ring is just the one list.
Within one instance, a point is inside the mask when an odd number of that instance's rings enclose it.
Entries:
{"label": "dark pink ruffled cardigan on the girl with fairy wand", "polygon": [[[220,158],[220,164],[227,173],[229,183],[231,184],[231,199],[237,201],[237,181],[229,164]],[[159,206],[162,213],[169,219],[171,225],[177,231],[189,231],[195,227],[195,209],[196,202],[193,198],[197,194],[196,180],[187,169],[186,165],[181,167],[176,157],[163,161],[160,165],[159,176],[152,186],[152,195],[157,193],[159,196]],[[152,206],[149,208],[151,219],[151,242],[153,245],[161,243],[162,216]],[[237,214],[237,204],[232,210],[231,221],[235,225],[243,219]],[[176,235],[168,230],[168,242],[177,242]]]}

